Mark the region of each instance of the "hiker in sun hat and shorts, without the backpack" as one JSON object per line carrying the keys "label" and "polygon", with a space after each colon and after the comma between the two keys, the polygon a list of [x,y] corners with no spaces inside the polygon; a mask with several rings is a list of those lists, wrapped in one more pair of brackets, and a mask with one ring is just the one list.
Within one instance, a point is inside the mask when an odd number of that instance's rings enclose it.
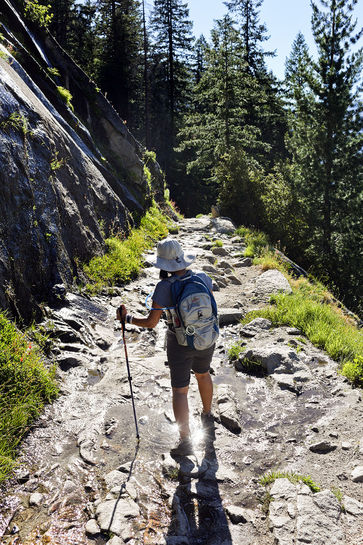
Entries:
{"label": "hiker in sun hat and shorts, without the backpack", "polygon": [[[157,283],[152,295],[152,308],[149,316],[139,318],[128,314],[125,305],[121,305],[122,319],[125,323],[137,325],[140,328],[155,328],[166,310],[168,317],[167,331],[167,358],[170,368],[171,387],[173,390],[173,411],[180,438],[175,446],[170,449],[171,455],[189,455],[194,452],[189,432],[189,408],[188,389],[190,382],[190,370],[193,370],[198,381],[198,389],[203,404],[201,422],[204,428],[213,426],[214,417],[211,411],[213,397],[213,383],[210,375],[210,364],[214,352],[214,344],[206,349],[194,349],[189,346],[181,346],[175,334],[173,323],[173,298],[171,287],[179,279],[187,279],[191,272],[187,270],[196,258],[193,251],[183,252],[179,242],[173,238],[167,238],[159,242],[156,254],[147,256],[146,261],[160,269],[161,281]],[[169,276],[170,273],[170,276]],[[212,281],[205,272],[195,273],[197,280],[206,284],[212,294]],[[212,299],[213,294],[212,294]],[[174,312],[175,315],[175,312]],[[121,320],[120,311],[117,311],[117,319]],[[211,328],[209,328],[211,329]],[[218,329],[217,334],[218,336]]]}

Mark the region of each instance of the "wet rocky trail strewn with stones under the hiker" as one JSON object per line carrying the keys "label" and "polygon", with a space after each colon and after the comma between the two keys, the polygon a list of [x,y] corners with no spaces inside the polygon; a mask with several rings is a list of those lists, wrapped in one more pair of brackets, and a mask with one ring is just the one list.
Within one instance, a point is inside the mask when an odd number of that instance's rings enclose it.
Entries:
{"label": "wet rocky trail strewn with stones under the hiker", "polygon": [[[114,318],[121,301],[132,313],[146,312],[156,269],[91,299],[67,294],[51,316],[60,396],[24,441],[17,480],[0,491],[2,545],[363,544],[361,392],[298,330],[272,329],[261,318],[239,323],[270,293],[291,288],[280,272],[251,265],[230,231],[229,221],[211,226],[202,217],[184,220],[175,235],[198,252],[194,269],[214,278],[221,323],[212,362],[214,437],[203,437],[192,376],[195,455],[169,455],[178,434],[162,319],[156,330],[128,326],[126,335],[137,444]],[[261,361],[263,373],[229,363],[226,350],[236,340],[245,342],[240,358]],[[276,469],[310,475],[321,492],[286,478],[262,487],[260,477]]]}

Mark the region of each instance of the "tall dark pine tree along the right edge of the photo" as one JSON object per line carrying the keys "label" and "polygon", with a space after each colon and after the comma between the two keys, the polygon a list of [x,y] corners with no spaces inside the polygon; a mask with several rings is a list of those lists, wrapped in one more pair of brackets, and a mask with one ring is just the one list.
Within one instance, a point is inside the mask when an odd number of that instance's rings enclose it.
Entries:
{"label": "tall dark pine tree along the right edge of the photo", "polygon": [[[345,269],[341,256],[352,240],[357,244],[357,233],[363,234],[363,119],[359,101],[363,54],[362,49],[350,52],[362,35],[362,31],[355,33],[356,22],[352,22],[356,3],[321,0],[322,9],[312,3],[318,61],[303,77],[308,88],[297,95],[288,141],[310,226],[310,255],[322,272],[329,271],[337,286],[342,286],[344,277],[356,273]],[[293,84],[297,86],[298,80]],[[356,256],[361,254],[360,243]]]}

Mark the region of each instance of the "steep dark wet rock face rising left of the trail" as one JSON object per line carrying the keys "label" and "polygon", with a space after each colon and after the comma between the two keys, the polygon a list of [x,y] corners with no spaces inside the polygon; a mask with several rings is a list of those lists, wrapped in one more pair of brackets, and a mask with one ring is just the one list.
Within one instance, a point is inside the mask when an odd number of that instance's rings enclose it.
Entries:
{"label": "steep dark wet rock face rising left of the trail", "polygon": [[0,21],[0,307],[28,321],[164,180],[149,160],[147,181],[138,142],[51,35],[10,0]]}

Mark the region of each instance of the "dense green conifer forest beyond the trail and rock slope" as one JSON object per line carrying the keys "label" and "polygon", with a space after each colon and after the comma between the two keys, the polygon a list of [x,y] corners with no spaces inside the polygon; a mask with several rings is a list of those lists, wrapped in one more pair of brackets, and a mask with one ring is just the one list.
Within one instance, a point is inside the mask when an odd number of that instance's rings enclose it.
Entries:
{"label": "dense green conifer forest beyond the trail and rock slope", "polygon": [[209,36],[183,0],[41,0],[50,31],[165,172],[187,216],[218,204],[363,310],[358,0],[311,2],[285,80],[267,68],[263,0],[224,2]]}

